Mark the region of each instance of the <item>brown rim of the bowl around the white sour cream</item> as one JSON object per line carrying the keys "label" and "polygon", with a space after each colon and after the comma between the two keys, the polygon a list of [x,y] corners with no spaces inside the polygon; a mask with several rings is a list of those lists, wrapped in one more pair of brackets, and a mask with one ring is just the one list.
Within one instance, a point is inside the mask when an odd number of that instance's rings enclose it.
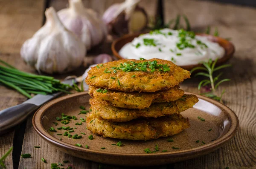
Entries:
{"label": "brown rim of the bowl around the white sour cream", "polygon": [[[145,33],[147,33],[147,32],[145,32]],[[117,57],[118,59],[125,59],[124,57],[122,57],[118,53],[119,51],[116,50],[116,44],[120,43],[120,41],[125,40],[125,39],[130,38],[130,37],[138,37],[140,34],[141,33],[125,34],[122,37],[119,37],[118,39],[114,40],[111,44],[111,51],[112,51],[113,55],[115,57]],[[226,40],[222,37],[215,37],[215,36],[210,35],[210,34],[204,34],[204,33],[196,33],[196,34],[200,35],[200,36],[207,36],[207,37],[210,37],[210,38],[218,39],[219,41],[223,41],[225,43],[228,43],[228,45],[230,46],[230,49],[231,49],[230,54],[226,54],[227,49],[224,48],[225,49],[225,55],[224,55],[224,57],[219,58],[219,60],[216,63],[217,65],[225,63],[233,57],[233,55],[235,53],[235,46],[230,41],[228,41],[228,40]],[[194,65],[184,65],[184,66],[180,66],[180,67],[183,68],[183,69],[186,69],[186,70],[191,70],[192,68],[198,67],[198,66],[202,66],[202,64],[198,63],[198,64],[194,64]]]}

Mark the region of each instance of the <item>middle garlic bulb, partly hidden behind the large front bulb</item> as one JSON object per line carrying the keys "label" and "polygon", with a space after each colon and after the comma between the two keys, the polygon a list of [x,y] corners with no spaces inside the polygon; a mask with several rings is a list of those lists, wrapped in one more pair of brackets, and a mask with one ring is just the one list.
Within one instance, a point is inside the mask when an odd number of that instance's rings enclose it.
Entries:
{"label": "middle garlic bulb, partly hidden behind the large front bulb", "polygon": [[87,50],[101,43],[107,35],[107,27],[92,9],[86,9],[81,0],[69,0],[70,7],[58,11],[64,26],[75,33]]}

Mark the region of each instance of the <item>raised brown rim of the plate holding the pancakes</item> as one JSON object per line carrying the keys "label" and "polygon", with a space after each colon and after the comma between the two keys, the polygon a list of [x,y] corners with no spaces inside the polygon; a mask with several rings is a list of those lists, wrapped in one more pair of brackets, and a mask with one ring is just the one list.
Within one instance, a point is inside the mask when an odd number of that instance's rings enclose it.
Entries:
{"label": "raised brown rim of the plate holding the pancakes", "polygon": [[[185,155],[193,155],[194,153],[203,153],[212,149],[215,149],[216,147],[222,146],[224,143],[227,143],[238,131],[239,129],[239,119],[235,112],[231,110],[229,107],[225,106],[222,103],[219,103],[216,100],[213,100],[209,97],[205,97],[202,95],[197,95],[189,92],[185,92],[185,94],[192,94],[196,95],[199,99],[206,100],[207,102],[210,102],[214,104],[215,106],[218,106],[222,110],[224,110],[224,113],[228,116],[230,120],[230,127],[227,131],[226,134],[222,135],[220,138],[217,138],[216,140],[212,141],[211,143],[207,143],[203,146],[192,148],[192,149],[186,149],[186,150],[179,150],[178,152],[162,152],[162,153],[157,153],[157,154],[125,154],[125,153],[116,153],[116,152],[101,152],[99,150],[91,150],[91,149],[84,149],[81,147],[73,146],[69,143],[65,143],[61,140],[58,140],[57,138],[53,137],[50,135],[46,130],[44,130],[44,127],[42,126],[41,120],[44,115],[44,111],[46,111],[50,106],[54,105],[55,103],[68,99],[70,97],[77,97],[80,95],[88,95],[87,91],[86,92],[79,92],[71,95],[66,95],[63,97],[56,98],[54,100],[49,101],[48,103],[44,104],[41,106],[34,114],[32,118],[32,125],[35,129],[35,131],[40,135],[44,140],[49,141],[50,143],[54,144],[55,146],[61,146],[63,148],[67,148],[70,150],[75,150],[79,152],[88,152],[88,153],[93,153],[96,155],[112,155],[112,156],[125,156],[125,157],[148,157],[148,156],[157,156],[157,157],[163,157],[163,156],[175,156],[175,157],[180,157],[180,156],[185,156]],[[227,111],[227,110],[229,111]],[[37,121],[36,119],[39,120]],[[231,131],[232,129],[232,131]]]}

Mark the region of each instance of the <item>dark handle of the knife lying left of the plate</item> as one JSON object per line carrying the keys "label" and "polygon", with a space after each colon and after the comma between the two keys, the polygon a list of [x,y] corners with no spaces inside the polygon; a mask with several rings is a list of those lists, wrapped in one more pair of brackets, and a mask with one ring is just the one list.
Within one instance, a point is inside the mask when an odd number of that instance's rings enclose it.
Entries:
{"label": "dark handle of the knife lying left of the plate", "polygon": [[22,103],[0,111],[0,134],[25,120],[38,107],[35,104]]}

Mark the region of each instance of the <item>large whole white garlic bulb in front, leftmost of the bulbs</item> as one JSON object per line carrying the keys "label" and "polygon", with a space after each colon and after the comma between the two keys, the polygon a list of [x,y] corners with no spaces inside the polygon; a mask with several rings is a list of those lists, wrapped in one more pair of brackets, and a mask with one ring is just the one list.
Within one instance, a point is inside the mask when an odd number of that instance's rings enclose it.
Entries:
{"label": "large whole white garlic bulb in front, leftmost of the bulbs", "polygon": [[64,73],[79,67],[86,48],[75,34],[68,31],[54,8],[45,11],[46,23],[20,49],[23,60],[38,72]]}

